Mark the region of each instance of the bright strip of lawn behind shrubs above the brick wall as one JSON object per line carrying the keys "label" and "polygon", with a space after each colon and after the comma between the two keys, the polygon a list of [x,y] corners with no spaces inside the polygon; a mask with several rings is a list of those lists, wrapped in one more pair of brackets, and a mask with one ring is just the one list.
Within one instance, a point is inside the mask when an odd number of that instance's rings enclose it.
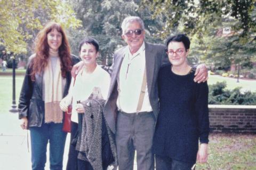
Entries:
{"label": "bright strip of lawn behind shrubs above the brick wall", "polygon": [[236,87],[242,87],[242,91],[251,91],[256,92],[256,80],[245,80],[239,79],[239,83],[237,83],[237,78],[229,78],[229,77],[222,77],[219,75],[209,75],[209,79],[207,80],[208,84],[215,84],[217,82],[227,82],[227,88],[232,90]]}

